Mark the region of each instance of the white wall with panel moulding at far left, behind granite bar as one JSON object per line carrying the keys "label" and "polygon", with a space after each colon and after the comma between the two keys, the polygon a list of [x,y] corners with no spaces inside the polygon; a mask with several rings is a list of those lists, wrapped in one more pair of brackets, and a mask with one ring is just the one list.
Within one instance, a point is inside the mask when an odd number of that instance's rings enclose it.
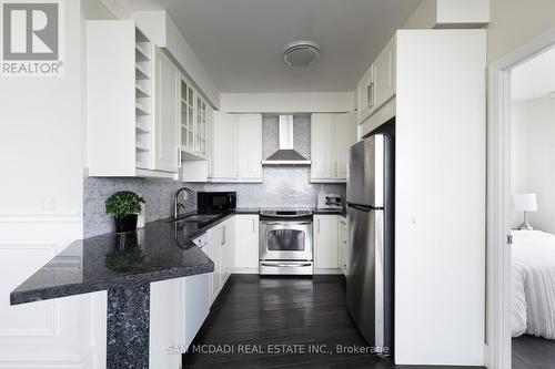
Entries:
{"label": "white wall with panel moulding at far left, behind granite bar", "polygon": [[0,368],[93,361],[90,298],[9,305],[13,288],[82,235],[81,1],[61,4],[64,74],[0,79]]}

